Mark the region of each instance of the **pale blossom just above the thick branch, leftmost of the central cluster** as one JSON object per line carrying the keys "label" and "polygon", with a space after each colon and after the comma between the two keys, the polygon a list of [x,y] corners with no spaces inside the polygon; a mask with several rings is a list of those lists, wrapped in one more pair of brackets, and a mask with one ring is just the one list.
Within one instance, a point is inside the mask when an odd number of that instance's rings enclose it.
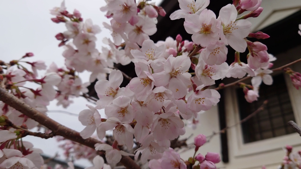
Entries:
{"label": "pale blossom just above the thick branch, leftmost of the central cluster", "polygon": [[89,109],[79,112],[78,119],[82,125],[86,126],[84,130],[80,132],[80,136],[86,139],[92,136],[96,128],[101,123],[101,116],[95,107],[86,105]]}

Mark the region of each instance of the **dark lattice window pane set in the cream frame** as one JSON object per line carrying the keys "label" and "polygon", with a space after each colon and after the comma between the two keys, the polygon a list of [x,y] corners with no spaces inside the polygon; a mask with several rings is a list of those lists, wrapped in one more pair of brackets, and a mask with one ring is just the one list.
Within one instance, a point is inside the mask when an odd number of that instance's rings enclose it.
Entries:
{"label": "dark lattice window pane set in the cream frame", "polygon": [[295,120],[290,97],[284,75],[273,77],[274,83],[270,86],[261,84],[258,101],[248,103],[244,99],[242,89],[237,89],[240,119],[244,119],[259,106],[264,100],[268,100],[266,109],[241,124],[244,143],[264,140],[293,133],[293,129],[287,125],[287,121]]}

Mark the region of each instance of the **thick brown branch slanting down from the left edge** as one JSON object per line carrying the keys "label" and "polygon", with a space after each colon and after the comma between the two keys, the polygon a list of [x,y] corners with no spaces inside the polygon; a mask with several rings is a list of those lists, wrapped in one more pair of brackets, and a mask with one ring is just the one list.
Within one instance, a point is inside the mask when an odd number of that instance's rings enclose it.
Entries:
{"label": "thick brown branch slanting down from the left edge", "polygon": [[[83,139],[79,132],[67,128],[66,126],[54,121],[53,119],[47,117],[43,113],[39,112],[38,110],[32,108],[31,106],[24,103],[22,100],[18,99],[14,95],[8,93],[5,89],[0,88],[0,100],[4,103],[8,104],[9,106],[13,107],[14,109],[18,110],[19,112],[23,113],[24,115],[28,116],[29,118],[39,122],[40,124],[44,125],[45,127],[49,128],[55,135],[63,136],[66,139],[72,140],[79,144],[91,147],[94,149],[94,145],[96,143],[101,143],[100,141],[94,138]],[[126,168],[129,169],[140,169],[138,164],[132,160],[129,156],[122,156],[120,161]]]}

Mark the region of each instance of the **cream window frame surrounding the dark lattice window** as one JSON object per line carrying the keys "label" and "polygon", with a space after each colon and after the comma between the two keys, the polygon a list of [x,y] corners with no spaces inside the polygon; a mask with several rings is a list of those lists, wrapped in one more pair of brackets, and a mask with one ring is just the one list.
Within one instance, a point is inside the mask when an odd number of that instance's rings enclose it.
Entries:
{"label": "cream window frame surrounding the dark lattice window", "polygon": [[[301,124],[301,92],[297,91],[291,84],[288,75],[284,75],[287,91],[291,100],[295,122]],[[237,100],[237,87],[225,88],[225,113],[227,126],[237,124],[240,121],[239,104]],[[298,103],[298,100],[299,103]],[[273,150],[282,149],[285,145],[301,145],[300,136],[297,133],[268,138],[250,143],[244,143],[242,127],[235,125],[228,130],[229,148],[232,149],[234,157],[258,154]]]}

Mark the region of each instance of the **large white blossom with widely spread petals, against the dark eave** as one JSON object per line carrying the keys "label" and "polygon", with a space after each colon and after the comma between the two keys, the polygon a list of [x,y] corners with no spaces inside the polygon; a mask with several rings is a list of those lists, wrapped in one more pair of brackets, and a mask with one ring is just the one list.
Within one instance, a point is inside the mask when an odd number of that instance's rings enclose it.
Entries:
{"label": "large white blossom with widely spread petals, against the dark eave", "polygon": [[228,4],[219,11],[217,18],[221,22],[220,38],[229,44],[235,51],[244,52],[247,42],[244,40],[251,31],[251,23],[247,20],[236,20],[237,10],[234,5]]}

